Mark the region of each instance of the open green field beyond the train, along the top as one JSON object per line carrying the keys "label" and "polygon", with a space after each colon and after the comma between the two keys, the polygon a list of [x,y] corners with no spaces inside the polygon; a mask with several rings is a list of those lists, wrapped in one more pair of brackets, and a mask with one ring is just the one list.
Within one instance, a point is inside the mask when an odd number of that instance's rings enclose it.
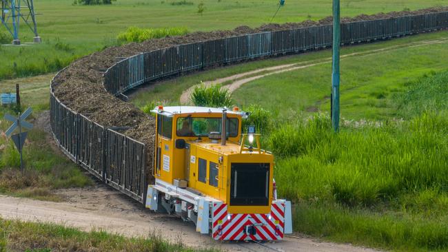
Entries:
{"label": "open green field beyond the train, along the top", "polygon": [[[190,31],[255,27],[271,21],[277,1],[118,0],[110,6],[74,6],[72,0],[41,0],[35,3],[41,45],[0,46],[0,79],[55,72],[74,59],[116,45],[116,36],[130,26],[140,28],[185,27]],[[174,3],[174,4],[172,4]],[[204,3],[203,14],[198,4]],[[291,0],[274,22],[321,19],[332,13],[331,1]],[[416,10],[447,4],[445,0],[385,1],[347,0],[341,3],[343,16],[376,12]],[[0,32],[6,32],[0,28]],[[21,41],[32,41],[28,28],[21,29]]]}

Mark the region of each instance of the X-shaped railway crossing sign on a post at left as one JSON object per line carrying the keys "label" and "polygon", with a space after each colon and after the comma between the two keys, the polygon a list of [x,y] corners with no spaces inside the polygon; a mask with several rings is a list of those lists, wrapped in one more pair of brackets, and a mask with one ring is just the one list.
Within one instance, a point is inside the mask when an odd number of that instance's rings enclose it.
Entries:
{"label": "X-shaped railway crossing sign on a post at left", "polygon": [[[25,119],[28,116],[30,116],[31,112],[32,112],[32,109],[30,107],[28,107],[28,109],[26,109],[26,111],[23,112],[23,114],[19,113],[19,116],[17,116],[17,117],[11,116],[10,114],[5,114],[5,119],[12,122],[11,127],[5,132],[5,134],[6,134],[6,136],[11,137],[12,141],[14,142],[14,144],[17,147],[17,150],[20,153],[20,169],[22,172],[23,172],[22,149],[23,149],[23,145],[25,144],[26,136],[28,136],[28,132],[22,132],[22,127],[25,129],[32,129],[32,124],[25,121]],[[16,129],[19,129],[19,134],[12,135],[12,133]]]}

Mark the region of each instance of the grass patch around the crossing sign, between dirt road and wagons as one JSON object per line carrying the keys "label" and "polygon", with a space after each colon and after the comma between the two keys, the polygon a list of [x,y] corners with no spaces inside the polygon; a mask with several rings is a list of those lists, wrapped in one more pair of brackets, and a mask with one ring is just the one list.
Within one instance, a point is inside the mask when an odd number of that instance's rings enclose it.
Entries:
{"label": "grass patch around the crossing sign, between dirt road and wagons", "polygon": [[[14,114],[11,109],[0,107],[0,118],[5,113]],[[5,130],[8,123],[0,123]],[[72,161],[60,153],[54,152],[48,145],[48,136],[42,129],[28,132],[23,147],[25,171],[21,173],[19,152],[12,140],[0,137],[0,193],[13,196],[59,200],[52,194],[53,189],[84,187],[92,180]]]}

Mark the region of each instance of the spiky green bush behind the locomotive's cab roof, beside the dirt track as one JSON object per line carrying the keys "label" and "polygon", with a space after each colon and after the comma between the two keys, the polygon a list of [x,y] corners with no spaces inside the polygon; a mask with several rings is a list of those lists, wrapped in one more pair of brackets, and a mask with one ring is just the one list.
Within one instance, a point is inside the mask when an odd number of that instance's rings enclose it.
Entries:
{"label": "spiky green bush behind the locomotive's cab roof, beside the dirt track", "polygon": [[221,85],[196,86],[190,95],[190,100],[200,107],[231,107],[233,104],[232,94],[229,90],[221,88]]}

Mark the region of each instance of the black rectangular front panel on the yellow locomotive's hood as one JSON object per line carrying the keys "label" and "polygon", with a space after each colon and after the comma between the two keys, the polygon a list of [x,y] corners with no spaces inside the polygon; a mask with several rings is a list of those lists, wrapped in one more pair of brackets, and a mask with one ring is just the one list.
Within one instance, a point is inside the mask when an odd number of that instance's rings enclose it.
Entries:
{"label": "black rectangular front panel on the yellow locomotive's hood", "polygon": [[232,163],[230,205],[269,205],[269,163]]}

